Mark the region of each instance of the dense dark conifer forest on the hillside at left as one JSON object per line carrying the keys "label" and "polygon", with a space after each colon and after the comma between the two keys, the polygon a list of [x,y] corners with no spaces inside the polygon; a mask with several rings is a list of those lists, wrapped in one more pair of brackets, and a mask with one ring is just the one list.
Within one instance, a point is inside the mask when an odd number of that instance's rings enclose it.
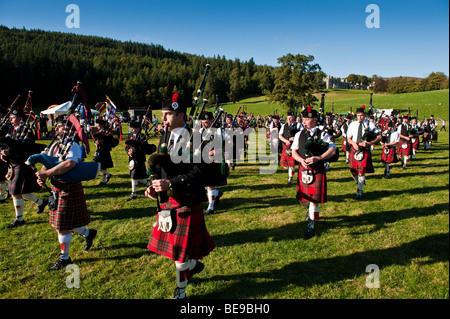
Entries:
{"label": "dense dark conifer forest on the hillside at left", "polygon": [[119,110],[158,109],[172,92],[191,105],[206,64],[211,65],[203,98],[209,105],[266,94],[274,68],[253,59],[229,60],[167,50],[161,45],[122,42],[41,30],[0,26],[0,104],[33,91],[33,107],[45,109],[72,99],[81,81],[89,106],[108,95]]}

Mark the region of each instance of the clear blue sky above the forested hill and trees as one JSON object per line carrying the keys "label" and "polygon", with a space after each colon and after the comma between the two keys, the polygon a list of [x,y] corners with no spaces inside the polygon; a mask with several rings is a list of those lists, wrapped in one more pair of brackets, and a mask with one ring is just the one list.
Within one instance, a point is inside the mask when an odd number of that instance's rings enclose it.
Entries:
{"label": "clear blue sky above the forested hill and trees", "polygon": [[[66,6],[80,9],[67,28]],[[380,28],[367,28],[366,6]],[[0,0],[7,27],[154,43],[180,52],[277,66],[287,54],[313,55],[334,76],[449,75],[447,0]]]}

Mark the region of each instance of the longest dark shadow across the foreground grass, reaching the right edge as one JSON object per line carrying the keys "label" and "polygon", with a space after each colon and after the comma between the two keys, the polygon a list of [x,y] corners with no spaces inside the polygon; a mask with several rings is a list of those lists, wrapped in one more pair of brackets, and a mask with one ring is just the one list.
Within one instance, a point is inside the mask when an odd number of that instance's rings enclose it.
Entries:
{"label": "longest dark shadow across the foreground grass, reaching the right edge", "polygon": [[[410,265],[415,258],[429,257],[431,259],[427,262],[429,264],[448,262],[448,249],[448,233],[436,234],[398,247],[357,252],[348,256],[292,262],[281,269],[266,272],[198,278],[193,282],[232,282],[222,289],[201,295],[201,298],[258,298],[282,292],[292,285],[309,288],[346,279],[353,280],[355,277],[367,275],[366,267],[369,264],[378,265],[382,273],[385,267]],[[189,297],[196,298],[196,296]]]}

